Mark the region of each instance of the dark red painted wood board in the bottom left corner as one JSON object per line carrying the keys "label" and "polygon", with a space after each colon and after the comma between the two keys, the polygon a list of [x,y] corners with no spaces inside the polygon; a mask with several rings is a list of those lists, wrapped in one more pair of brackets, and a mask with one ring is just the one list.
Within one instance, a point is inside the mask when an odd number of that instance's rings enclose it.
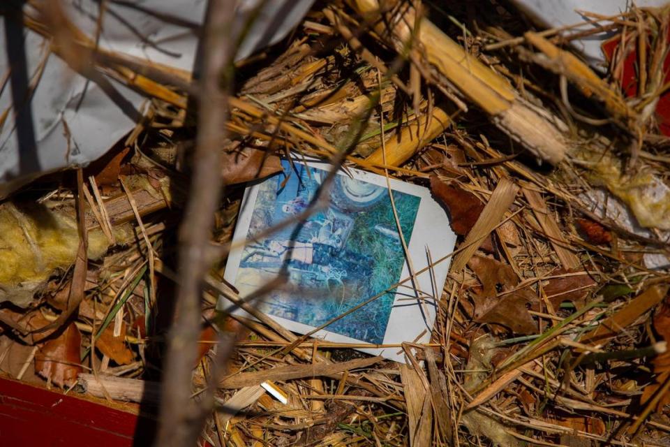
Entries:
{"label": "dark red painted wood board in the bottom left corner", "polygon": [[128,411],[0,378],[0,446],[149,446],[155,428]]}

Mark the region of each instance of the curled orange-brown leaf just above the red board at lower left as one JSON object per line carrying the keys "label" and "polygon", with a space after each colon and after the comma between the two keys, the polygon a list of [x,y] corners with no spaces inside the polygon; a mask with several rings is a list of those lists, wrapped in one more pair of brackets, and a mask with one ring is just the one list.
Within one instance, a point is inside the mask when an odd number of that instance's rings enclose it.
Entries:
{"label": "curled orange-brown leaf just above the red board at lower left", "polygon": [[83,371],[80,364],[82,335],[70,323],[60,335],[49,339],[35,355],[35,370],[57,386],[73,386]]}

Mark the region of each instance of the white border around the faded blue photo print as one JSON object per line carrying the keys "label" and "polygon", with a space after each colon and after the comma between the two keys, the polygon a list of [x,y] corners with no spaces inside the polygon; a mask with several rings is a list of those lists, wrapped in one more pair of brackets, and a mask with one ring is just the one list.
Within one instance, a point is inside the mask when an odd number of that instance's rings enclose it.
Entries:
{"label": "white border around the faded blue photo print", "polygon": [[[332,165],[323,161],[301,161],[292,159],[292,162],[326,171],[332,169]],[[385,189],[387,188],[386,177],[368,173],[363,170],[347,168],[346,172],[339,170],[336,175],[348,174],[356,179],[361,179],[364,182],[382,186]],[[267,181],[269,180],[264,180],[264,182]],[[418,293],[418,295],[423,296],[424,299],[420,300],[417,298],[417,293],[415,293],[415,290],[412,287],[413,281],[412,279],[408,279],[410,278],[410,270],[408,268],[408,263],[405,260],[400,281],[403,281],[404,279],[408,280],[404,281],[401,286],[396,288],[394,304],[391,314],[389,315],[385,332],[384,344],[401,344],[403,342],[426,343],[429,342],[431,337],[431,330],[435,321],[435,312],[438,305],[431,297],[434,295],[435,298],[439,300],[442,295],[442,289],[447,281],[447,274],[449,273],[449,265],[451,263],[451,258],[447,256],[454,251],[456,234],[454,234],[449,225],[447,213],[444,208],[433,199],[429,189],[423,186],[401,182],[400,180],[393,178],[390,178],[389,182],[392,190],[408,193],[421,198],[419,209],[417,210],[414,230],[412,230],[412,236],[408,241],[408,253],[412,260],[415,272],[424,270],[422,273],[417,273],[415,277],[417,288],[419,291],[424,291],[423,294]],[[254,184],[253,186],[248,186],[246,191],[244,191],[239,219],[233,235],[232,243],[235,248],[230,251],[228,263],[226,263],[225,273],[223,275],[224,279],[233,286],[235,285],[235,280],[237,278],[242,251],[244,250],[243,242],[247,241],[248,230],[251,224],[255,203],[258,198],[259,188],[259,184]],[[428,250],[430,251],[433,263],[435,263],[433,268],[428,268]],[[438,288],[437,291],[433,291],[433,275],[434,284]],[[391,286],[391,284],[389,284],[389,286]],[[430,296],[426,298],[426,294]],[[245,297],[241,298],[244,299]],[[232,311],[234,314],[253,318],[243,310],[235,308],[235,306],[223,296],[219,298],[217,308],[224,312],[230,312],[231,309],[234,309]],[[359,309],[357,312],[365,312],[365,307]],[[424,316],[424,314],[426,315]],[[286,318],[271,314],[268,314],[268,316],[288,330],[299,332],[301,334],[311,332],[311,330],[314,329],[313,326],[297,323],[296,321],[291,321]],[[359,339],[329,332],[327,328],[315,332],[313,337],[327,340],[329,342],[368,344]],[[384,356],[391,360],[405,362],[405,356],[402,349],[399,347],[357,348],[357,350]]]}

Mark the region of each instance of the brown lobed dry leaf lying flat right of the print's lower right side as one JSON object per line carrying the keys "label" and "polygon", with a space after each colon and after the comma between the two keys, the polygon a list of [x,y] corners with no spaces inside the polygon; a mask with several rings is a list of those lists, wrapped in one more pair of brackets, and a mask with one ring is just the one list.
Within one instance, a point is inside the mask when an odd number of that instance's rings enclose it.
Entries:
{"label": "brown lobed dry leaf lying flat right of the print's lower right side", "polygon": [[[502,325],[517,334],[537,332],[533,317],[528,313],[529,307],[535,309],[539,304],[537,295],[528,287],[514,290],[519,277],[509,265],[492,258],[473,256],[468,266],[482,283],[482,291],[472,293],[475,321]],[[500,297],[499,291],[502,293]],[[512,292],[505,293],[507,291]]]}

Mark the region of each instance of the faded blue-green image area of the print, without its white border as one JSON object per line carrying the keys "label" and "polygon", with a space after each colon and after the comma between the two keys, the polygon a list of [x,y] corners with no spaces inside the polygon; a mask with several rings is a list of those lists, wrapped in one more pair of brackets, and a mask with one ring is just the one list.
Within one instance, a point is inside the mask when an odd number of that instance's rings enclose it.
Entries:
{"label": "faded blue-green image area of the print, without its white border", "polygon": [[[318,326],[389,288],[401,279],[405,254],[388,190],[337,175],[329,206],[268,237],[263,230],[304,212],[327,171],[282,161],[284,173],[260,184],[235,284],[251,293],[280,272],[290,287],[263,297],[260,309]],[[405,242],[409,244],[421,198],[393,191]],[[326,330],[381,344],[395,291],[327,326]]]}

